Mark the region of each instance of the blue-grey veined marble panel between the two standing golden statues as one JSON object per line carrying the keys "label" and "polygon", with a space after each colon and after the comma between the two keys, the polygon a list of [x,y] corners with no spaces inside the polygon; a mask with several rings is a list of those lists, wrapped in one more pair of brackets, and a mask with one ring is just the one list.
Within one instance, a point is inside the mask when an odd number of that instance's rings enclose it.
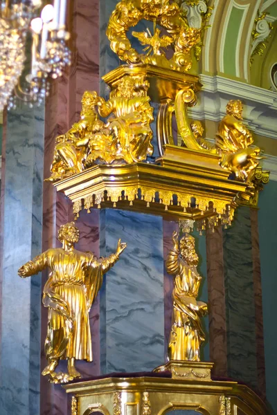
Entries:
{"label": "blue-grey veined marble panel between the two standing golden statues", "polygon": [[164,362],[163,220],[100,213],[100,254],[127,242],[100,291],[101,371],[151,371]]}

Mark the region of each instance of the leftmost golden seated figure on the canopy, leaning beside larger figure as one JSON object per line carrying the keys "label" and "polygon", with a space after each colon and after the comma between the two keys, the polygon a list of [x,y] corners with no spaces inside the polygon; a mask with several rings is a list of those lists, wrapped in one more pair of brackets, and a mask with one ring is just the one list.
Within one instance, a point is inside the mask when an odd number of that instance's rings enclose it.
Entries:
{"label": "leftmost golden seated figure on the canopy, leaning beside larger figure", "polygon": [[96,133],[104,127],[96,111],[97,102],[96,91],[84,92],[80,121],[75,122],[65,134],[57,136],[52,174],[46,181],[57,181],[84,170],[89,152],[89,133]]}

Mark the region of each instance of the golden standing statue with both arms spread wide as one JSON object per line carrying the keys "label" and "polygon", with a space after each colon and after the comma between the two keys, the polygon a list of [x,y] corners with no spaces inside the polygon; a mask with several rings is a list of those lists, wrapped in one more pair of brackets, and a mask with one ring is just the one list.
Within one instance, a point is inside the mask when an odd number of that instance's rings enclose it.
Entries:
{"label": "golden standing statue with both arms spread wide", "polygon": [[[51,273],[44,286],[42,302],[48,307],[45,353],[48,365],[42,375],[51,382],[69,382],[80,378],[75,359],[92,361],[89,310],[102,284],[102,277],[118,261],[126,243],[115,254],[97,259],[91,252],[75,250],[79,230],[66,223],[59,230],[62,248],[51,248],[19,268],[20,277],[35,275],[45,268]],[[55,372],[60,359],[68,360],[68,374]]]}

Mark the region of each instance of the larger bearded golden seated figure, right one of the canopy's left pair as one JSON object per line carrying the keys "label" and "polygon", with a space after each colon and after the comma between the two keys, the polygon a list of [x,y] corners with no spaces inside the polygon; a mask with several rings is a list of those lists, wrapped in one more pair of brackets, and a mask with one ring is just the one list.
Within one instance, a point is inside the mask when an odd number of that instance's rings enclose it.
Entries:
{"label": "larger bearded golden seated figure, right one of the canopy's left pair", "polygon": [[109,100],[98,97],[98,112],[107,117],[107,124],[98,133],[89,134],[90,154],[87,165],[96,160],[103,163],[136,163],[152,155],[152,129],[154,120],[148,81],[143,77],[123,77]]}

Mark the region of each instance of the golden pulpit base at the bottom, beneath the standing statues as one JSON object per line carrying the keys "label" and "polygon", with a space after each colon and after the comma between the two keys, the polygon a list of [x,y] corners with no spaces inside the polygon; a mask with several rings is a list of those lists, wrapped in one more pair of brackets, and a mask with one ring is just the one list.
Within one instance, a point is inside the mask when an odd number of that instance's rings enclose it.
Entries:
{"label": "golden pulpit base at the bottom, beneath the standing statues", "polygon": [[112,374],[64,385],[73,394],[71,415],[163,415],[174,409],[205,415],[269,414],[265,403],[237,382],[169,378],[169,371],[140,375]]}

